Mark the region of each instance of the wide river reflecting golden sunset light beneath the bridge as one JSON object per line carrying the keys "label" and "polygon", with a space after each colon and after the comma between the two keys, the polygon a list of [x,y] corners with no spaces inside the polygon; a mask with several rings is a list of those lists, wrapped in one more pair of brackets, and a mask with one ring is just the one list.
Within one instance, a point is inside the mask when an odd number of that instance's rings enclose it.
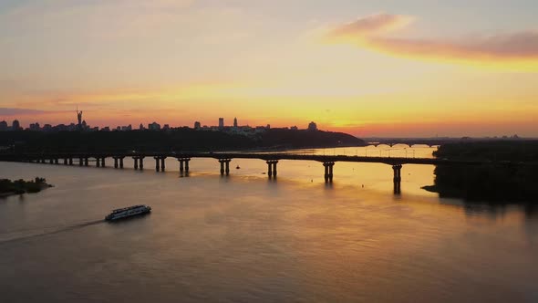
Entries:
{"label": "wide river reflecting golden sunset light beneath the bridge", "polygon": [[[326,149],[424,157],[424,148]],[[193,159],[181,177],[0,162],[55,187],[0,199],[0,302],[538,302],[538,214],[440,199],[433,166]],[[236,169],[239,165],[240,169]],[[149,204],[118,224],[111,209]]]}

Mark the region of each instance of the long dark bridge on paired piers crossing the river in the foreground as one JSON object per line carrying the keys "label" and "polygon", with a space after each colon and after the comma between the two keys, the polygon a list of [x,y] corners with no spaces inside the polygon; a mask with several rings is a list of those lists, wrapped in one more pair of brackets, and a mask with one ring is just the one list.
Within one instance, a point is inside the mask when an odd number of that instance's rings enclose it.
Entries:
{"label": "long dark bridge on paired piers crossing the river in the foreground", "polygon": [[277,164],[281,160],[314,161],[321,162],[324,167],[326,183],[332,183],[334,178],[334,166],[336,162],[367,162],[384,163],[392,166],[394,175],[394,193],[400,193],[401,169],[404,164],[423,165],[533,165],[538,168],[538,162],[492,162],[486,160],[451,160],[436,158],[391,158],[391,157],[364,157],[347,155],[316,155],[278,152],[50,152],[50,153],[7,153],[0,154],[0,161],[8,162],[36,162],[64,165],[89,166],[89,162],[97,167],[106,167],[106,159],[114,160],[114,168],[123,169],[123,160],[127,157],[133,159],[134,169],[143,170],[146,158],[155,161],[155,171],[164,172],[165,159],[175,158],[179,162],[181,174],[187,174],[190,170],[190,162],[193,158],[212,158],[220,163],[221,175],[230,174],[230,162],[232,159],[259,159],[267,163],[267,175],[276,178]]}

